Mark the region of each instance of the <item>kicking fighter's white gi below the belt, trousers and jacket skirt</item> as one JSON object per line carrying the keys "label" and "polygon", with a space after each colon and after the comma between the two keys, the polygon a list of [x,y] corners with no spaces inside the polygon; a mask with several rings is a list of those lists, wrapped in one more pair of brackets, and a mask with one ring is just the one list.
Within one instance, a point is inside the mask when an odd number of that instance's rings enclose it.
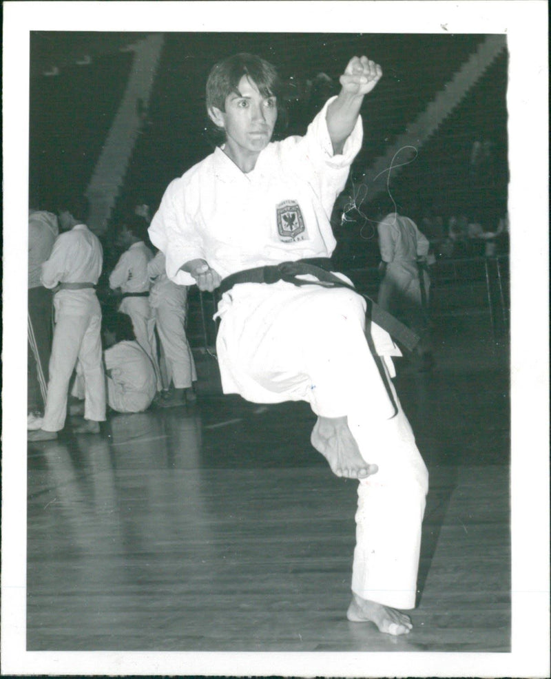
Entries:
{"label": "kicking fighter's white gi below the belt, trousers and jacket skirt", "polygon": [[366,341],[364,299],[281,282],[228,295],[217,342],[222,386],[253,401],[302,399],[317,415],[348,418],[362,456],[379,467],[358,487],[353,592],[415,607],[428,472],[386,363]]}

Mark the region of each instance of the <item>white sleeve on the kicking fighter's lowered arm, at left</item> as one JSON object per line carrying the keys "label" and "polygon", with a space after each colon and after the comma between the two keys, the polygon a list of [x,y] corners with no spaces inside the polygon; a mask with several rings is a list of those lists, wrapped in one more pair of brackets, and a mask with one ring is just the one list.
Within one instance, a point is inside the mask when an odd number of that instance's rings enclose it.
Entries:
{"label": "white sleeve on the kicking fighter's lowered arm, at left", "polygon": [[193,276],[180,271],[180,267],[191,260],[205,259],[205,254],[186,211],[185,189],[185,176],[169,184],[149,226],[149,238],[165,253],[167,276],[180,285],[194,285]]}

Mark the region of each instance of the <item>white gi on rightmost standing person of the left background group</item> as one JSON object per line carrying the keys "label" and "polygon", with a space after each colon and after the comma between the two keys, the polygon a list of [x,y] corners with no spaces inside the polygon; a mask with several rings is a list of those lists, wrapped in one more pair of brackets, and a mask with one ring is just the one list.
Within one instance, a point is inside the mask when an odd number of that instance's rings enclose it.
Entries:
{"label": "white gi on rightmost standing person of the left background group", "polygon": [[197,373],[191,347],[185,335],[187,286],[171,281],[166,273],[165,255],[158,251],[147,264],[153,280],[149,304],[165,353],[167,382],[176,389],[187,389],[196,382]]}

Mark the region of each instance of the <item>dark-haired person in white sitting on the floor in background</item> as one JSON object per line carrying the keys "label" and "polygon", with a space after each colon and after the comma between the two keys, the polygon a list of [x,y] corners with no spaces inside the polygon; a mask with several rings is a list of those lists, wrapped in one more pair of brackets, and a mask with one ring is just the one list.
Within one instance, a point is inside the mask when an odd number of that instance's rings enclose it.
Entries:
{"label": "dark-haired person in white sitting on the floor in background", "polygon": [[102,335],[107,405],[117,412],[147,410],[157,393],[157,377],[151,359],[136,342],[129,316],[104,314]]}

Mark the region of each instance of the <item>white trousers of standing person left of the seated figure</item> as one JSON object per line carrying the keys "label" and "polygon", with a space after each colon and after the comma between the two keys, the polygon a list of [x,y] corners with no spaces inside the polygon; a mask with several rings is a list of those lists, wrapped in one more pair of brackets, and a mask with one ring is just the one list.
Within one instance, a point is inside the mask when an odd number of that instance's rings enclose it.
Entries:
{"label": "white trousers of standing person left of the seated figure", "polygon": [[79,362],[84,383],[84,417],[105,419],[105,377],[101,355],[101,309],[92,289],[61,290],[54,296],[55,328],[42,428],[63,429],[67,392]]}

